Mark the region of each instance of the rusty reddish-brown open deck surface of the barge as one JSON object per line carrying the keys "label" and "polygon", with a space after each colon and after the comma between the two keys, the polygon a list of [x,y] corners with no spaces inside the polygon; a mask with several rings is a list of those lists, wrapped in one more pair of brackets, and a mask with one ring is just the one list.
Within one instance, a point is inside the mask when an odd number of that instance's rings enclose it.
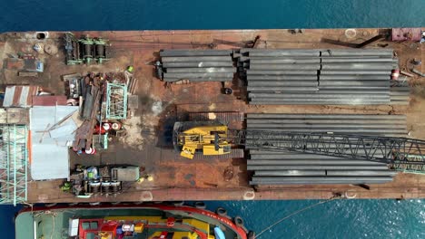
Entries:
{"label": "rusty reddish-brown open deck surface of the barge", "polygon": [[[222,30],[222,31],[143,31],[143,32],[81,32],[109,39],[112,61],[102,65],[64,64],[63,33],[49,33],[45,43],[57,45],[59,52],[54,56],[39,55],[44,59],[44,73],[35,77],[19,77],[13,64],[0,62],[0,84],[34,84],[45,91],[64,94],[61,76],[70,73],[120,72],[128,65],[134,66],[134,77],[138,80],[135,93],[138,108],[133,109],[132,118],[124,122],[130,136],[125,140],[113,139],[110,148],[96,155],[76,156],[70,151],[71,166],[74,164],[133,164],[143,167],[142,174],[153,177],[153,181],[129,183],[124,192],[117,196],[93,196],[75,198],[60,191],[64,180],[30,181],[28,202],[98,202],[98,201],[173,201],[173,200],[242,200],[242,199],[312,199],[329,198],[342,193],[356,198],[420,198],[425,197],[425,176],[399,174],[389,184],[371,185],[370,189],[349,185],[279,186],[257,188],[248,185],[250,173],[246,170],[246,159],[203,158],[190,160],[176,157],[170,148],[168,130],[173,121],[187,112],[240,111],[263,113],[364,113],[406,114],[410,137],[425,139],[425,79],[415,77],[411,82],[413,91],[407,106],[253,106],[244,99],[242,82],[233,81],[227,87],[233,95],[221,93],[220,82],[200,82],[165,86],[154,77],[153,62],[161,49],[195,48],[230,49],[252,43],[257,35],[261,41],[258,48],[341,48],[343,43],[361,43],[380,33],[382,29],[356,29],[356,37],[345,35],[345,29],[305,30],[292,34],[288,30]],[[17,52],[31,52],[36,42],[35,33],[4,33],[0,40],[2,59]],[[370,47],[395,49],[400,58],[400,69],[407,70],[411,59],[424,59],[424,48],[420,43],[373,43]],[[350,44],[348,44],[350,45]],[[422,65],[421,72],[424,71]],[[160,105],[161,110],[153,109]],[[50,168],[54,170],[54,168]],[[232,177],[229,177],[229,170]]]}

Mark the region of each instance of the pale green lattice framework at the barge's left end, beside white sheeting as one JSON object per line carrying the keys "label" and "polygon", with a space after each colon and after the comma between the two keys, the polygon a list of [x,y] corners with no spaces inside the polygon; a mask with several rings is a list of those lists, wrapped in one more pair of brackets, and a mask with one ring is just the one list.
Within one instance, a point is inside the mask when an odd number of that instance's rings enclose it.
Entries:
{"label": "pale green lattice framework at the barge's left end, beside white sheeting", "polygon": [[27,134],[25,125],[0,125],[0,204],[26,201]]}

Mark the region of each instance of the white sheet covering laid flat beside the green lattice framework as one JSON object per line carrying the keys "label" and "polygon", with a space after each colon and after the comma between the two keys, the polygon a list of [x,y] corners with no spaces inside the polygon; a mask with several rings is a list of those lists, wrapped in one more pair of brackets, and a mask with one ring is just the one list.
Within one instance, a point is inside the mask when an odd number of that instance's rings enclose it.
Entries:
{"label": "white sheet covering laid flat beside the green lattice framework", "polygon": [[66,145],[74,139],[77,126],[72,117],[60,125],[57,123],[77,110],[77,106],[35,106],[31,109],[31,177],[34,180],[69,177]]}

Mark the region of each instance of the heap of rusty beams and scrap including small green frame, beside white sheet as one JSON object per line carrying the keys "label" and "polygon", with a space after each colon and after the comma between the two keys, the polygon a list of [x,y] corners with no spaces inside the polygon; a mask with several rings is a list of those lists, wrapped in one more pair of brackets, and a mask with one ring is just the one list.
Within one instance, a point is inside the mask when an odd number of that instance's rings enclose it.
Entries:
{"label": "heap of rusty beams and scrap including small green frame, beside white sheet", "polygon": [[83,124],[76,130],[74,151],[107,148],[108,135],[122,130],[127,119],[127,81],[124,72],[94,73],[85,76],[65,75],[69,101],[78,105]]}

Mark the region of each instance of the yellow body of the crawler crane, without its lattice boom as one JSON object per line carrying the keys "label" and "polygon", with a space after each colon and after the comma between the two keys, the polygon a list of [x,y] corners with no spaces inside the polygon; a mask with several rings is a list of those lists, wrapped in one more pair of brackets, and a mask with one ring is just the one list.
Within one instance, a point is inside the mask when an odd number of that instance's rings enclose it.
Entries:
{"label": "yellow body of the crawler crane, without its lattice boom", "polygon": [[218,156],[231,153],[228,128],[218,122],[176,122],[173,128],[173,145],[183,158],[193,159],[196,153]]}

